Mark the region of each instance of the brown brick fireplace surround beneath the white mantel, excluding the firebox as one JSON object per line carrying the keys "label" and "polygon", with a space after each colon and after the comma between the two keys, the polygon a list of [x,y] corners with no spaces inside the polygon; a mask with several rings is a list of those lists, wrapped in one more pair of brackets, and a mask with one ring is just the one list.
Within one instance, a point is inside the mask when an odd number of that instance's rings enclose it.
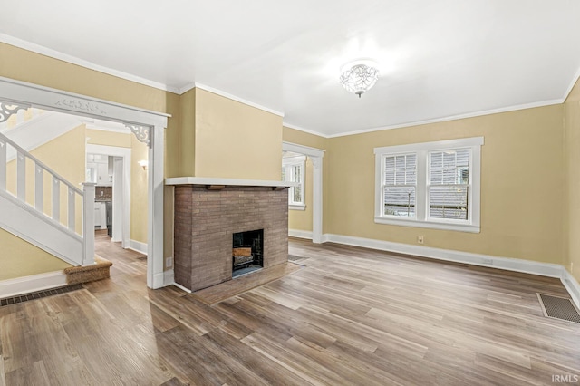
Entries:
{"label": "brown brick fireplace surround beneath the white mantel, excluding the firebox", "polygon": [[[232,237],[263,229],[263,266],[288,258],[288,190],[272,186],[175,184],[175,282],[191,291],[232,279]],[[194,182],[188,184],[187,182]],[[263,181],[267,184],[268,181]]]}

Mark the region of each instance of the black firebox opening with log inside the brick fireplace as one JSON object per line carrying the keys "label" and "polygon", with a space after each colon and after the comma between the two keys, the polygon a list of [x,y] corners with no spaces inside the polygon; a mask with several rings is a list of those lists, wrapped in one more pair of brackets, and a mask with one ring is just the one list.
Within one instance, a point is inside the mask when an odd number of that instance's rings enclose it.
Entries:
{"label": "black firebox opening with log inside the brick fireplace", "polygon": [[264,266],[264,229],[233,234],[232,277],[246,275]]}

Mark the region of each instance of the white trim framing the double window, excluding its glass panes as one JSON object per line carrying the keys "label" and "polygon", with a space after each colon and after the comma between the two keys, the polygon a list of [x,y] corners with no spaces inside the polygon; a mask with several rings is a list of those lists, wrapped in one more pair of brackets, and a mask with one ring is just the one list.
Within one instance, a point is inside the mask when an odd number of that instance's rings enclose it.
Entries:
{"label": "white trim framing the double window, excluding its glass panes", "polygon": [[[408,145],[386,146],[374,148],[375,155],[375,204],[374,222],[377,224],[389,224],[402,227],[424,227],[433,229],[445,229],[459,232],[480,232],[480,205],[481,205],[481,146],[484,144],[483,137],[471,137],[457,140],[438,140],[433,142],[421,142]],[[428,215],[428,160],[429,153],[437,150],[471,150],[470,164],[470,192],[471,203],[468,220],[433,219]],[[384,156],[400,154],[417,154],[417,190],[415,192],[415,217],[394,217],[383,214],[382,211],[382,175]]]}

